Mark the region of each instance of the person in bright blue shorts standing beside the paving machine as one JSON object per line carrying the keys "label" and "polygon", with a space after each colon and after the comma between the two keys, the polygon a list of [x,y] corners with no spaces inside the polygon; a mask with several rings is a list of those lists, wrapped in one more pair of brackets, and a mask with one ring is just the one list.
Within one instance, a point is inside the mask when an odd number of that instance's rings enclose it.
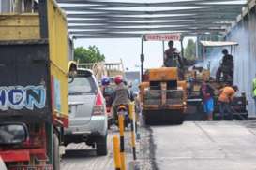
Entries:
{"label": "person in bright blue shorts standing beside the paving machine", "polygon": [[214,89],[203,81],[200,88],[200,95],[203,101],[203,111],[206,113],[206,120],[213,120],[214,111]]}

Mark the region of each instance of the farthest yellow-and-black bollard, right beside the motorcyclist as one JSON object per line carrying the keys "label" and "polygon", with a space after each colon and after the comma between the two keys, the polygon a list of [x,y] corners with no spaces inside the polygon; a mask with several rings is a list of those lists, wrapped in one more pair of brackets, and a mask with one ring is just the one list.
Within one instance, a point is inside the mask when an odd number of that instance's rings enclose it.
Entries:
{"label": "farthest yellow-and-black bollard, right beside the motorcyclist", "polygon": [[130,130],[131,130],[131,146],[132,146],[132,153],[133,153],[133,160],[136,160],[136,144],[135,144],[135,106],[134,103],[129,104],[129,119],[131,120]]}

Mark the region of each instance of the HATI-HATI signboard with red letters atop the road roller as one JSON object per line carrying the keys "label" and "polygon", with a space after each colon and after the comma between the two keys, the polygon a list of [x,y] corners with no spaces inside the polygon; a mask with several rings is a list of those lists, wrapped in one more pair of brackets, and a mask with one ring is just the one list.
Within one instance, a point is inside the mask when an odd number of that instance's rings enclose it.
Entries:
{"label": "HATI-HATI signboard with red letters atop the road roller", "polygon": [[179,34],[149,34],[144,35],[145,41],[179,41]]}

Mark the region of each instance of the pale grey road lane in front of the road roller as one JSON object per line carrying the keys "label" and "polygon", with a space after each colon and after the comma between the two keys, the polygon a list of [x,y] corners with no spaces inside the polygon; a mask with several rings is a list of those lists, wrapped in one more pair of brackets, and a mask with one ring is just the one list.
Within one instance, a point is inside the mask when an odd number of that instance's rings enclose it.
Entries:
{"label": "pale grey road lane in front of the road roller", "polygon": [[255,121],[187,121],[151,127],[160,170],[255,170]]}

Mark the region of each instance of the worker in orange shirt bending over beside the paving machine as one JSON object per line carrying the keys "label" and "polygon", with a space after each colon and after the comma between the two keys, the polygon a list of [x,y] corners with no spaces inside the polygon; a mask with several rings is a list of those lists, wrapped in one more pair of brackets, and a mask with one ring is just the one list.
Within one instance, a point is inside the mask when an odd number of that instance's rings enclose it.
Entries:
{"label": "worker in orange shirt bending over beside the paving machine", "polygon": [[226,113],[228,120],[233,120],[231,103],[233,101],[234,94],[237,91],[237,86],[226,86],[219,91],[218,102],[221,120],[224,120]]}

